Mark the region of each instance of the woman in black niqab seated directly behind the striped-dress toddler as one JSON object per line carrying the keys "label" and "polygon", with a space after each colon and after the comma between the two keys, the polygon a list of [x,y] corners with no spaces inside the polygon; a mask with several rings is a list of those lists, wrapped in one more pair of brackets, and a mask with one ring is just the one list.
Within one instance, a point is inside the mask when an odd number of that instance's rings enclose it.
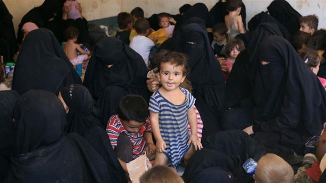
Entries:
{"label": "woman in black niqab seated directly behind the striped-dress toddler", "polygon": [[220,130],[219,117],[223,113],[224,101],[221,66],[214,57],[203,25],[188,24],[182,27],[168,43],[173,45],[167,47],[168,49],[185,53],[189,57],[188,66],[191,72],[188,79],[192,83],[196,107],[204,123],[202,139],[205,139]]}

